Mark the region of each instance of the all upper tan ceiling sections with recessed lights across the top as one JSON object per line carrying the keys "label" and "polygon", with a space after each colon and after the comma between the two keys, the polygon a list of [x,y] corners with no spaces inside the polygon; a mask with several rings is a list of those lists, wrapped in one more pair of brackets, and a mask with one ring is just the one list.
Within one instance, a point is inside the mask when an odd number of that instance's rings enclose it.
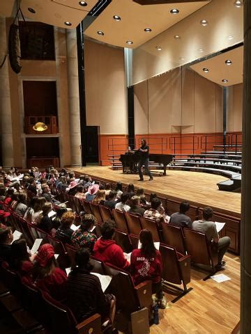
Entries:
{"label": "all upper tan ceiling sections with recessed lights across the top", "polygon": [[[112,0],[112,3],[94,20],[85,31],[85,35],[119,47],[135,48],[151,40],[162,31],[174,26],[188,15],[208,4],[208,1],[192,1],[185,3],[160,4],[142,6],[133,0]],[[66,29],[74,29],[86,17],[98,0],[86,0],[87,6],[79,6],[79,0],[22,0],[21,8],[24,17]],[[15,0],[1,0],[0,15],[10,17],[15,13]],[[36,13],[31,13],[33,8]],[[171,14],[170,10],[177,8],[178,14]],[[119,22],[113,19],[119,15]],[[70,22],[66,26],[64,22]],[[145,32],[150,28],[151,32]],[[104,35],[98,35],[103,31]],[[131,40],[132,45],[126,44]]]}

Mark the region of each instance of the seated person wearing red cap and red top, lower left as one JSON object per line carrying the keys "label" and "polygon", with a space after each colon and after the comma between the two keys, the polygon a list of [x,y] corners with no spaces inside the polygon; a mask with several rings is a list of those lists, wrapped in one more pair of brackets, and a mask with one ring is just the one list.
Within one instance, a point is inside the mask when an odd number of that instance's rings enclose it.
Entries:
{"label": "seated person wearing red cap and red top, lower left", "polygon": [[40,246],[33,265],[33,281],[42,291],[56,299],[66,299],[66,273],[58,268],[54,257],[54,248],[50,244]]}

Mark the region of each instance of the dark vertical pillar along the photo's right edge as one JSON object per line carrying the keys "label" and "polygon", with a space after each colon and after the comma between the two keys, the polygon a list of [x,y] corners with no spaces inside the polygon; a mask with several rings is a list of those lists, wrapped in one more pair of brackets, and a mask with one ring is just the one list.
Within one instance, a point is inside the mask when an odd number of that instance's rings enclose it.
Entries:
{"label": "dark vertical pillar along the photo's right edge", "polygon": [[244,1],[241,333],[251,331],[251,1]]}

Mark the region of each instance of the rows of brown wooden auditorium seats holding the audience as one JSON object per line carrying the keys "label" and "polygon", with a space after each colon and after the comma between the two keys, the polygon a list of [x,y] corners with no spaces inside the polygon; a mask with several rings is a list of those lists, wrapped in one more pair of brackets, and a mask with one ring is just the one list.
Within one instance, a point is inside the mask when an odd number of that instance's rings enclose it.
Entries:
{"label": "rows of brown wooden auditorium seats holding the audience", "polygon": [[[77,175],[76,175],[77,176]],[[96,180],[102,181],[104,180]],[[115,184],[112,184],[114,186]],[[146,198],[149,194],[146,193]],[[178,212],[180,201],[162,198],[162,206],[165,212],[170,216]],[[76,212],[75,225],[79,225],[80,212],[93,214],[96,217],[96,228],[94,232],[100,237],[100,227],[107,219],[113,219],[116,223],[115,237],[116,244],[121,246],[123,252],[130,253],[133,249],[138,248],[139,232],[146,228],[151,231],[153,240],[160,243],[160,253],[162,255],[163,271],[162,282],[165,292],[173,292],[176,302],[182,296],[192,290],[188,287],[190,283],[190,267],[194,264],[203,264],[206,271],[211,276],[215,273],[217,256],[211,246],[206,241],[204,233],[194,230],[180,228],[167,223],[157,224],[150,219],[140,216],[123,213],[116,209],[112,211],[102,205],[95,205],[87,200],[81,200],[66,192],[58,193],[60,202],[68,202],[68,207]],[[54,205],[56,210],[58,207]],[[61,241],[52,237],[52,235],[40,230],[33,223],[27,222],[21,216],[18,216],[12,209],[5,207],[10,212],[9,223],[13,230],[22,232],[28,246],[31,248],[36,239],[43,239],[42,244],[51,244],[55,253],[59,254],[57,261],[61,269],[73,267],[75,264],[75,253],[77,248],[70,244],[63,244]],[[192,221],[201,217],[202,209],[190,205],[187,212]],[[220,212],[215,212],[213,219],[219,222],[225,222],[225,227],[220,232],[220,237],[229,235],[231,245],[229,250],[234,253],[239,252],[239,231],[240,219],[227,216]],[[151,315],[152,307],[152,289],[151,281],[145,281],[135,286],[130,273],[114,267],[112,264],[105,264],[94,257],[91,257],[93,271],[112,276],[109,285],[109,293],[116,296],[116,310],[123,318],[117,320],[116,328],[125,329],[121,323],[128,323],[132,312],[147,308]],[[209,277],[206,276],[205,280]],[[1,262],[0,267],[0,302],[4,308],[19,324],[20,328],[26,333],[106,333],[101,326],[100,315],[96,314],[77,324],[73,312],[64,305],[54,301],[52,297],[45,292],[31,287],[25,280],[8,268],[6,262]],[[116,320],[115,320],[116,321]],[[119,327],[121,326],[121,328]],[[47,332],[48,331],[48,332]]]}

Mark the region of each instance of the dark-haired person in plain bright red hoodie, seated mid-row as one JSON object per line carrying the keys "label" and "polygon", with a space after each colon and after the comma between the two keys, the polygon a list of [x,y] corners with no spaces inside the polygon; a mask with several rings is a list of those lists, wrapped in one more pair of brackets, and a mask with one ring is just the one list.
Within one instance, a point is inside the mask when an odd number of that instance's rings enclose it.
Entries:
{"label": "dark-haired person in plain bright red hoodie, seated mid-row", "polygon": [[123,250],[120,246],[116,245],[116,241],[113,240],[115,232],[114,221],[107,220],[100,227],[102,237],[96,241],[93,247],[93,256],[97,260],[113,264],[120,269],[128,269],[130,263],[123,255]]}

